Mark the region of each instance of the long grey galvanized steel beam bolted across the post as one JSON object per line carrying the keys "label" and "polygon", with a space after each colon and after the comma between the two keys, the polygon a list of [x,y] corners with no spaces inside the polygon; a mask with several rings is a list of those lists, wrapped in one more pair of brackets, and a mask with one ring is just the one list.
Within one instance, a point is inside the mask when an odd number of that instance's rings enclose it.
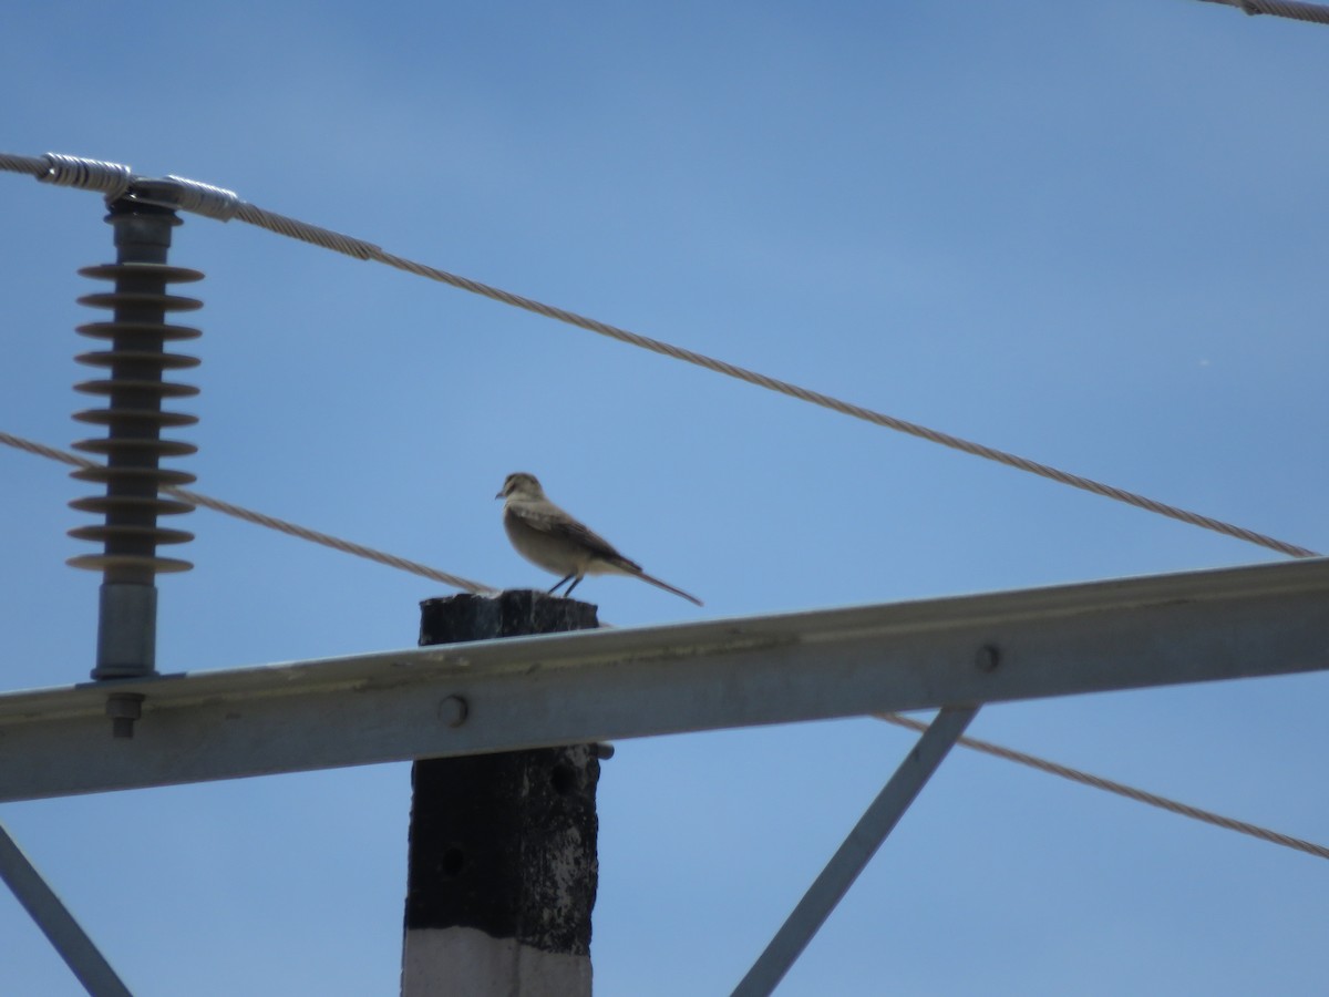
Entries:
{"label": "long grey galvanized steel beam bolted across the post", "polygon": [[1329,558],[508,638],[4,695],[0,800],[1324,669]]}

